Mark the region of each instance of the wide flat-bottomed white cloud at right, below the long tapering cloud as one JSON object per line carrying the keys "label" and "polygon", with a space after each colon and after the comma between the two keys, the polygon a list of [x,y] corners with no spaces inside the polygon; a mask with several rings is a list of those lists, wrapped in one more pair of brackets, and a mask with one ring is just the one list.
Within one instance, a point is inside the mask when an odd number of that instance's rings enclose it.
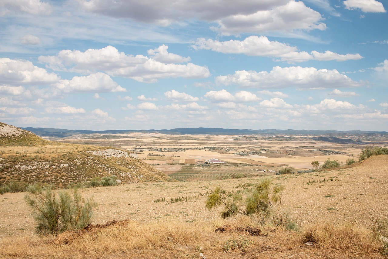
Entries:
{"label": "wide flat-bottomed white cloud at right, below the long tapering cloud", "polygon": [[255,88],[286,88],[300,87],[311,89],[316,87],[357,87],[362,83],[355,82],[337,70],[320,69],[314,67],[291,66],[281,68],[275,66],[267,71],[236,71],[233,75],[216,77],[217,84],[236,84],[243,87]]}

